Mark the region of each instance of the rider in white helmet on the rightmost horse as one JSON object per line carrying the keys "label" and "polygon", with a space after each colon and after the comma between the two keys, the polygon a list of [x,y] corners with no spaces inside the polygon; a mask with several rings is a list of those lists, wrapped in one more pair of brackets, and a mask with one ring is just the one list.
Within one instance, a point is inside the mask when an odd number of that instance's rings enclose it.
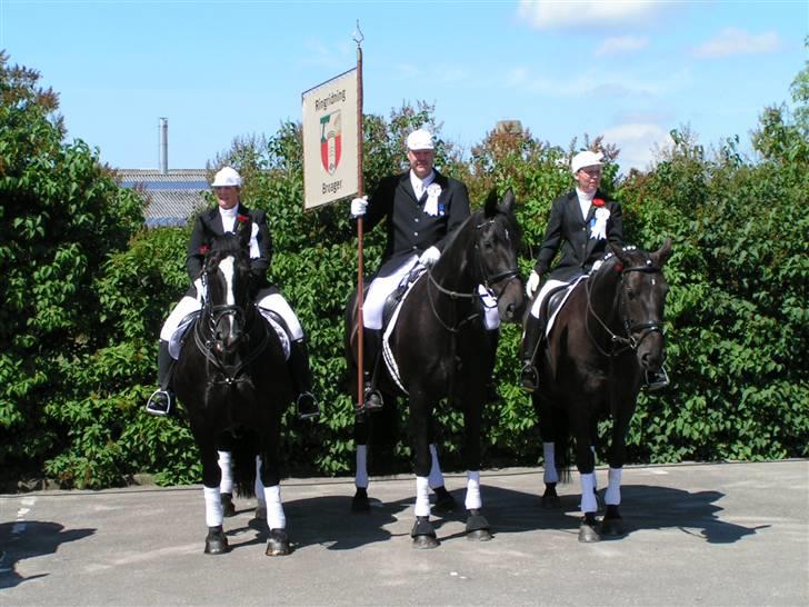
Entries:
{"label": "rider in white helmet on the rightmost horse", "polygon": [[[539,385],[533,359],[546,332],[547,317],[540,315],[540,310],[548,293],[589,273],[593,263],[608,251],[609,243],[623,245],[621,206],[598,189],[602,165],[600,153],[588,150],[573,156],[570,169],[576,179],[576,189],[553,201],[537,265],[526,283],[526,293],[530,298],[539,287],[541,277],[548,276],[531,305],[522,336],[520,384],[528,392],[533,392]],[[560,248],[561,259],[548,275]],[[666,382],[661,374],[649,379],[649,388],[661,388]]]}

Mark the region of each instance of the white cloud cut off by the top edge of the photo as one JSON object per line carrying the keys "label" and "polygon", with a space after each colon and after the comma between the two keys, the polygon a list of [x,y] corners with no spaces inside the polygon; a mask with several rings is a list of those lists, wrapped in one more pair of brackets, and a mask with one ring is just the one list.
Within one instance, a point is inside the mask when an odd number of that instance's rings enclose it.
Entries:
{"label": "white cloud cut off by the top edge of the photo", "polygon": [[605,1],[520,0],[517,16],[540,30],[645,22],[667,8],[659,0]]}

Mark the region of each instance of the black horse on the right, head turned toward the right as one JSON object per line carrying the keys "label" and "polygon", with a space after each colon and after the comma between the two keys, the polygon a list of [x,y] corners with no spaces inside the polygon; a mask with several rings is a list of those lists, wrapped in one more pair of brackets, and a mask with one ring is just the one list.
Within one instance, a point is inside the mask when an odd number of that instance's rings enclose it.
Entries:
{"label": "black horse on the right, head turned toward the right", "polygon": [[[542,502],[558,502],[558,470],[567,462],[569,438],[575,438],[576,466],[581,476],[580,541],[622,534],[621,469],[626,436],[645,374],[658,371],[665,358],[663,305],[669,290],[663,266],[671,241],[655,252],[611,247],[601,266],[573,287],[541,350],[540,385],[533,405],[545,441]],[[607,452],[607,509],[600,524],[595,450],[598,422],[612,418]]]}

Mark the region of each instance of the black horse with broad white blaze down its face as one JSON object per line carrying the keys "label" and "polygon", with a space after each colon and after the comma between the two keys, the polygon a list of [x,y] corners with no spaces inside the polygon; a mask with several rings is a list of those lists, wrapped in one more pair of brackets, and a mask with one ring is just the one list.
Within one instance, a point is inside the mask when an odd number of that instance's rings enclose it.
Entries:
{"label": "black horse with broad white blaze down its face", "polygon": [[207,297],[177,361],[174,388],[202,458],[204,551],[229,550],[217,454],[227,444],[239,494],[252,495],[256,474],[260,475],[270,528],[267,555],[278,556],[290,553],[280,498],[279,442],[292,386],[281,339],[250,297],[249,228],[242,226],[240,236],[217,238],[206,255]]}

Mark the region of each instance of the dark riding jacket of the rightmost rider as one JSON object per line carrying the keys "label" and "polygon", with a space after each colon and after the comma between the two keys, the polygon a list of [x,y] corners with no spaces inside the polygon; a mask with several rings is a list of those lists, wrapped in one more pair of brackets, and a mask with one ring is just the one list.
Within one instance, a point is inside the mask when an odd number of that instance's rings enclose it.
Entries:
{"label": "dark riding jacket of the rightmost rider", "polygon": [[[607,238],[590,238],[596,225],[595,205],[590,205],[587,217],[581,216],[581,207],[576,190],[553,200],[550,219],[545,231],[545,240],[537,256],[535,271],[553,280],[570,281],[577,276],[588,273],[592,265],[607,252],[609,242],[623,246],[623,220],[621,206],[615,200],[596,191],[593,200],[603,200],[602,208],[610,215],[607,219]],[[557,252],[561,249],[559,262],[548,276]]]}

